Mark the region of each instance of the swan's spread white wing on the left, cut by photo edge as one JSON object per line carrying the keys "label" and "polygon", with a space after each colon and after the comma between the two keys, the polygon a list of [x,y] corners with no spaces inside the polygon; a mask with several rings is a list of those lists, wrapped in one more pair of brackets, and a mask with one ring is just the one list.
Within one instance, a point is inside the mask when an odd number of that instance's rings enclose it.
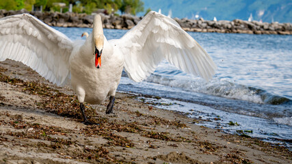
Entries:
{"label": "swan's spread white wing on the left, cut by photo edge", "polygon": [[0,61],[13,59],[62,85],[70,76],[72,41],[30,14],[0,19]]}

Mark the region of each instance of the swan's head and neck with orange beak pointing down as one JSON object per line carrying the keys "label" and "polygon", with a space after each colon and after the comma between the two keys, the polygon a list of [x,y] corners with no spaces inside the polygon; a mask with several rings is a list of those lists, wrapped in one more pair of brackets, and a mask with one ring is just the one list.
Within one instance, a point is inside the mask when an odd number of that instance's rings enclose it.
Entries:
{"label": "swan's head and neck with orange beak pointing down", "polygon": [[101,23],[101,16],[96,14],[93,20],[93,45],[95,55],[95,67],[101,68],[101,55],[103,53],[103,24]]}

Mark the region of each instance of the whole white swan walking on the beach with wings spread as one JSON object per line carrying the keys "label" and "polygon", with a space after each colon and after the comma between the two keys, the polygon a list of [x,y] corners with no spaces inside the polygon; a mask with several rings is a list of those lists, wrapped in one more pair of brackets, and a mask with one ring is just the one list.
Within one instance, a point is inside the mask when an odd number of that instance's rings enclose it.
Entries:
{"label": "whole white swan walking on the beach with wings spread", "polygon": [[0,61],[5,59],[21,61],[57,85],[71,80],[85,124],[90,122],[84,101],[99,104],[109,97],[106,113],[113,111],[123,68],[137,82],[163,59],[206,80],[216,69],[211,57],[176,21],[157,12],[149,12],[122,38],[109,41],[99,15],[94,16],[90,36],[75,42],[30,14],[4,17],[0,19]]}

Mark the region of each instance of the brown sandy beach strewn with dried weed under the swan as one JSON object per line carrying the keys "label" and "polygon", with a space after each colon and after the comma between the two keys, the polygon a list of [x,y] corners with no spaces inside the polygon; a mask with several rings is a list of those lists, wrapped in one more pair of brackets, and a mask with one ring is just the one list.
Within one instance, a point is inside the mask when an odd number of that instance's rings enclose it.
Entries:
{"label": "brown sandy beach strewn with dried weed under the swan", "polygon": [[287,148],[196,125],[117,93],[114,114],[15,61],[0,63],[0,163],[292,163]]}

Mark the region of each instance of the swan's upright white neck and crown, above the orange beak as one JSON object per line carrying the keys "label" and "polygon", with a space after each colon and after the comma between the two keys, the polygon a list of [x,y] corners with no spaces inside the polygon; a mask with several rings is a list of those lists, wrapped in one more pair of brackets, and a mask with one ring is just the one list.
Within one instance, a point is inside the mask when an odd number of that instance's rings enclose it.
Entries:
{"label": "swan's upright white neck and crown, above the orange beak", "polygon": [[94,16],[92,38],[94,46],[96,46],[97,49],[103,49],[103,24],[101,22],[101,16],[98,14]]}

